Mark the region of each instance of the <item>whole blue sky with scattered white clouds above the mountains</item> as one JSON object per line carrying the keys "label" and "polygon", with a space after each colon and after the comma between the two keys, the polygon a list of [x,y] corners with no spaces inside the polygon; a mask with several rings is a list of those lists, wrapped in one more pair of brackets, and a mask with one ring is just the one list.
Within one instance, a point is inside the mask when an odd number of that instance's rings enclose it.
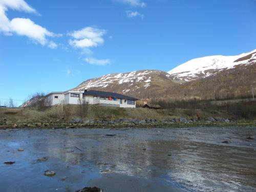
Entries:
{"label": "whole blue sky with scattered white clouds above the mountains", "polygon": [[0,102],[249,52],[255,10],[254,0],[0,0]]}

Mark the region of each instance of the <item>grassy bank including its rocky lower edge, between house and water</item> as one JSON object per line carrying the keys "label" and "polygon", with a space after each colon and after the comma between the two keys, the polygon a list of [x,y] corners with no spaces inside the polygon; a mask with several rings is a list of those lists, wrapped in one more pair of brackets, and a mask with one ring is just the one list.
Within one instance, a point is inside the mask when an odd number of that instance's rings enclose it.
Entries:
{"label": "grassy bank including its rocky lower edge, between house and water", "polygon": [[[185,118],[188,122],[182,122]],[[230,122],[211,122],[210,119],[229,119]],[[75,120],[74,120],[75,119]],[[78,120],[77,120],[78,119]],[[121,121],[120,121],[121,119]],[[77,105],[52,106],[45,111],[36,108],[1,108],[0,127],[124,127],[124,126],[226,126],[254,125],[253,120],[236,119],[226,111],[214,109],[144,109],[112,108],[89,105],[87,116],[80,118]]]}

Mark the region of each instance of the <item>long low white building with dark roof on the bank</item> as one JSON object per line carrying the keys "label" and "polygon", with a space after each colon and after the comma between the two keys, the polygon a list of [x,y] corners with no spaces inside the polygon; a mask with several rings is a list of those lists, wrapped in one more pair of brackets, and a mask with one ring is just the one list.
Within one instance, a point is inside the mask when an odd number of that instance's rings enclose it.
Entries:
{"label": "long low white building with dark roof on the bank", "polygon": [[116,106],[119,108],[136,108],[136,98],[105,91],[84,90],[52,92],[47,95],[51,105],[56,104],[78,104],[79,99],[84,99],[89,104],[98,104],[99,106]]}

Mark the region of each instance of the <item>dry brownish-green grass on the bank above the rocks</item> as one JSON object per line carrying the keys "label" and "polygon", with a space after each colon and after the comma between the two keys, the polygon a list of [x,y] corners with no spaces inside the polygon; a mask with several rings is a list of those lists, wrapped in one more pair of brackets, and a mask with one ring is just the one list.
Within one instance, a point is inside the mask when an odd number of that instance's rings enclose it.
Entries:
{"label": "dry brownish-green grass on the bank above the rocks", "polygon": [[[46,111],[37,111],[31,108],[7,108],[0,109],[0,121],[6,119],[9,122],[67,122],[77,118],[77,105],[66,105],[61,112],[61,106],[52,106]],[[97,105],[89,105],[86,119],[146,119],[157,120],[186,117],[188,119],[200,119],[207,117],[225,117],[226,115],[214,110],[191,109],[147,109],[147,108],[113,108]]]}

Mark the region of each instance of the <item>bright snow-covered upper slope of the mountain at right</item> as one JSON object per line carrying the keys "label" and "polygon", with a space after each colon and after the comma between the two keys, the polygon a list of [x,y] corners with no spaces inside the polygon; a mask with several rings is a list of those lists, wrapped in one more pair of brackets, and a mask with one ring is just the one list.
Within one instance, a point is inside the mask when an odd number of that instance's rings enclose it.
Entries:
{"label": "bright snow-covered upper slope of the mountain at right", "polygon": [[255,61],[256,50],[235,56],[206,56],[189,60],[168,71],[173,80],[186,82],[215,75],[225,69],[232,69],[237,65],[247,65]]}

